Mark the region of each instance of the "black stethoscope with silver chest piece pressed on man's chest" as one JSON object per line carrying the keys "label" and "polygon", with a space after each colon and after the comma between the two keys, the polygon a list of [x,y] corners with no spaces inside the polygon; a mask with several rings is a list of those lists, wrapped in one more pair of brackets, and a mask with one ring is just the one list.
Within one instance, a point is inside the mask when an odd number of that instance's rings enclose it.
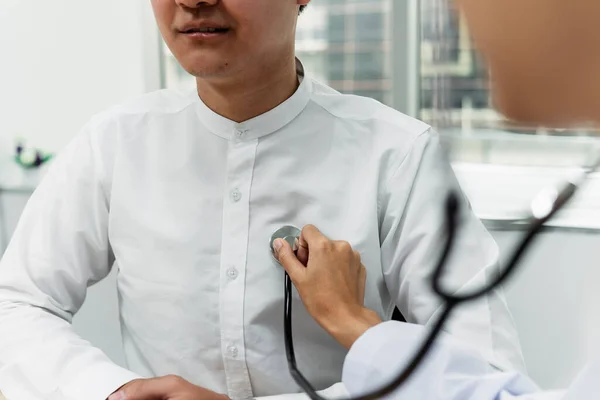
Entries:
{"label": "black stethoscope with silver chest piece pressed on man's chest", "polygon": [[[412,359],[394,378],[391,382],[383,387],[373,390],[369,393],[357,397],[350,397],[344,400],[371,400],[386,396],[400,386],[402,386],[408,378],[417,370],[419,365],[424,362],[425,357],[432,349],[435,341],[442,333],[444,326],[447,324],[452,312],[457,306],[475,301],[486,294],[493,291],[498,286],[502,285],[510,278],[519,261],[522,259],[526,250],[530,247],[542,227],[552,217],[556,215],[568,202],[573,198],[573,195],[583,185],[588,176],[600,169],[600,158],[591,166],[583,170],[577,177],[566,181],[560,186],[551,187],[540,192],[531,202],[529,216],[523,219],[523,225],[527,227],[521,242],[515,247],[510,255],[506,266],[501,272],[493,278],[493,280],[482,288],[473,290],[468,293],[457,294],[455,291],[445,289],[442,285],[444,275],[444,267],[446,260],[452,251],[452,245],[458,230],[458,215],[460,213],[459,197],[456,193],[450,193],[445,202],[445,224],[446,232],[443,252],[438,260],[434,274],[431,279],[431,288],[443,300],[440,317],[436,320],[433,328],[428,333],[423,344],[413,355]],[[269,247],[271,254],[274,254],[273,243],[276,239],[287,241],[294,251],[298,248],[298,240],[300,238],[300,229],[294,226],[284,226],[278,229],[271,236]],[[274,257],[274,256],[273,256]],[[288,274],[285,274],[284,282],[284,337],[285,351],[288,361],[288,368],[293,379],[298,386],[306,392],[312,400],[327,400],[320,396],[310,382],[298,370],[296,364],[296,355],[294,353],[294,341],[292,337],[292,281]]]}

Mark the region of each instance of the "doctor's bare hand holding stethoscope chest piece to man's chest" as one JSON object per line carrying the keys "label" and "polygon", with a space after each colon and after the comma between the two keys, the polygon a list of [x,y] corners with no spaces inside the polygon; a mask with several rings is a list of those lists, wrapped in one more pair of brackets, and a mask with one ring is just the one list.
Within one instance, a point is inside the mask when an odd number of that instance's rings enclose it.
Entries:
{"label": "doctor's bare hand holding stethoscope chest piece to man's chest", "polygon": [[364,307],[367,273],[350,244],[331,241],[307,225],[297,256],[285,240],[276,240],[274,248],[310,315],[342,346],[349,349],[381,323],[375,312]]}

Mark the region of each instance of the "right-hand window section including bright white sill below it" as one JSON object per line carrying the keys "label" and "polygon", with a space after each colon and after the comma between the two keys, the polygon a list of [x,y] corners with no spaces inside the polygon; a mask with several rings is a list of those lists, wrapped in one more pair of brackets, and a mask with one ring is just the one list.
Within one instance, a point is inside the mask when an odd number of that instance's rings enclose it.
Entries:
{"label": "right-hand window section including bright white sill below it", "polygon": [[[447,0],[421,0],[420,118],[444,138],[476,213],[505,225],[534,196],[599,153],[597,131],[514,126],[493,109],[488,73],[465,21]],[[590,179],[552,224],[600,228],[600,177]]]}

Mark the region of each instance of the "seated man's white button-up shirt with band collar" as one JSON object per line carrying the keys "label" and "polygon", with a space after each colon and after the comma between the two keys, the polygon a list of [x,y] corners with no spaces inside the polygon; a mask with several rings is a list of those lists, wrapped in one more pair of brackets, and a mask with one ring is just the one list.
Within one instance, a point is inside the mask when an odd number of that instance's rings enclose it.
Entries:
{"label": "seated man's white button-up shirt with band collar", "polygon": [[[100,400],[136,376],[177,374],[232,399],[298,392],[283,342],[283,270],[269,237],[315,224],[368,270],[366,306],[427,324],[446,194],[457,181],[426,124],[301,77],[244,123],[196,93],[160,91],[95,118],[53,162],[0,264],[0,390]],[[494,273],[498,250],[463,204],[449,274]],[[86,288],[118,270],[128,370],[71,330]],[[499,368],[520,368],[495,292],[450,328]],[[295,294],[298,363],[317,388],[346,352]],[[130,372],[133,371],[133,372]],[[15,398],[26,398],[13,395]]]}

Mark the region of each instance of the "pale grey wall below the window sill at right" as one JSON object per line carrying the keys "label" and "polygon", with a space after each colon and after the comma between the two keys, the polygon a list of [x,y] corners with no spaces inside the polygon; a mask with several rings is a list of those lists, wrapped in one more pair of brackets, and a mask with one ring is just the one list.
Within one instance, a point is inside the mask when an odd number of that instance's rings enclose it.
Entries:
{"label": "pale grey wall below the window sill at right", "polygon": [[[520,232],[493,232],[506,257]],[[531,377],[564,388],[588,357],[600,356],[600,234],[540,235],[506,285]]]}

